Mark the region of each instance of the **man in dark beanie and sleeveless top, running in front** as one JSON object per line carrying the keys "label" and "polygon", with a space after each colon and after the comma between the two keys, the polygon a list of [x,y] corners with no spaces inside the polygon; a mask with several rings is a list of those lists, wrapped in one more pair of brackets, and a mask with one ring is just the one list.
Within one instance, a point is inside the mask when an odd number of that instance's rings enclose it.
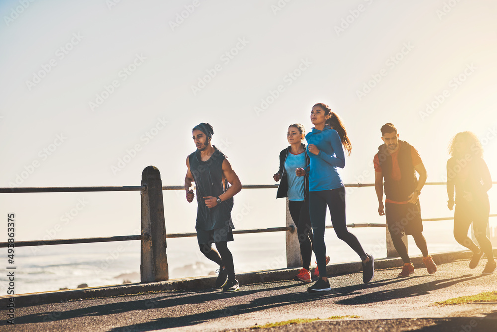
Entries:
{"label": "man in dark beanie and sleeveless top, running in front", "polygon": [[[223,287],[223,292],[234,292],[239,286],[227,242],[233,241],[233,196],[242,189],[242,184],[226,156],[211,145],[213,133],[209,123],[193,128],[197,150],[186,158],[186,200],[193,201],[195,194],[190,187],[195,182],[198,204],[195,229],[200,251],[219,265],[216,287]],[[212,243],[219,253],[212,248]]]}

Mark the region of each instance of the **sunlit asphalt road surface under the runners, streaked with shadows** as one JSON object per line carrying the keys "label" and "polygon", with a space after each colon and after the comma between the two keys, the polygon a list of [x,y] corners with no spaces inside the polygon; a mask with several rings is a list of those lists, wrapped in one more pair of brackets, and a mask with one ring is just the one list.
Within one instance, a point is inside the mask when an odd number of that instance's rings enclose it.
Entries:
{"label": "sunlit asphalt road surface under the runners, streaked with shadows", "polygon": [[[497,331],[497,303],[441,306],[437,301],[497,290],[497,272],[481,275],[468,261],[441,264],[429,275],[416,269],[396,278],[398,268],[377,270],[370,284],[362,273],[332,276],[331,292],[310,294],[297,281],[218,289],[163,291],[71,300],[15,308],[15,325],[2,314],[0,331],[250,331],[250,327],[297,318],[321,321],[267,331]],[[2,308],[3,310],[3,308]],[[333,316],[358,316],[332,320]],[[261,331],[261,330],[253,330]]]}

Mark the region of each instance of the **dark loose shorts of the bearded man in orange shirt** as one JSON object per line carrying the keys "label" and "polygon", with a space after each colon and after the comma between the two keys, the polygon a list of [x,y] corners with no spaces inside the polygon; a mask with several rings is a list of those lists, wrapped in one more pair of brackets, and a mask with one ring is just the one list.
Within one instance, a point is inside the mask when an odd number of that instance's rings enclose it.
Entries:
{"label": "dark loose shorts of the bearded man in orange shirt", "polygon": [[416,204],[385,203],[385,216],[391,235],[412,235],[423,231],[419,200]]}

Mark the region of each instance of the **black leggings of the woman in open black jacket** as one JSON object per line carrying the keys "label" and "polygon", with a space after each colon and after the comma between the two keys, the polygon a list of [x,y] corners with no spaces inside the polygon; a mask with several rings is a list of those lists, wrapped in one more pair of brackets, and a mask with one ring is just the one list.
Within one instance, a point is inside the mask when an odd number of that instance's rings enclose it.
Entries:
{"label": "black leggings of the woman in open black jacket", "polygon": [[309,199],[307,201],[288,201],[288,210],[290,210],[293,222],[297,226],[302,268],[309,270],[314,241],[311,220],[309,219]]}

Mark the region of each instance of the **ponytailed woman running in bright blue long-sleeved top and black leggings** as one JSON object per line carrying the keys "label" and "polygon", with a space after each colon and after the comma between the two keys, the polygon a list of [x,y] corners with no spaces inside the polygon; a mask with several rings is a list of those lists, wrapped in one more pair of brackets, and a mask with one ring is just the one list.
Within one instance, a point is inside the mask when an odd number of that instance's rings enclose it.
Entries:
{"label": "ponytailed woman running in bright blue long-sleeved top and black leggings", "polygon": [[345,187],[336,168],[345,167],[343,147],[350,155],[352,145],[339,117],[323,104],[311,110],[312,132],[306,135],[310,165],[298,169],[297,175],[309,174],[309,212],[314,233],[314,252],[318,263],[318,281],[307,290],[310,293],[330,291],[325,264],[326,206],[331,223],[339,239],[345,241],[361,257],[363,281],[368,283],[374,275],[373,256],[366,254],[359,240],[347,230],[345,219]]}

